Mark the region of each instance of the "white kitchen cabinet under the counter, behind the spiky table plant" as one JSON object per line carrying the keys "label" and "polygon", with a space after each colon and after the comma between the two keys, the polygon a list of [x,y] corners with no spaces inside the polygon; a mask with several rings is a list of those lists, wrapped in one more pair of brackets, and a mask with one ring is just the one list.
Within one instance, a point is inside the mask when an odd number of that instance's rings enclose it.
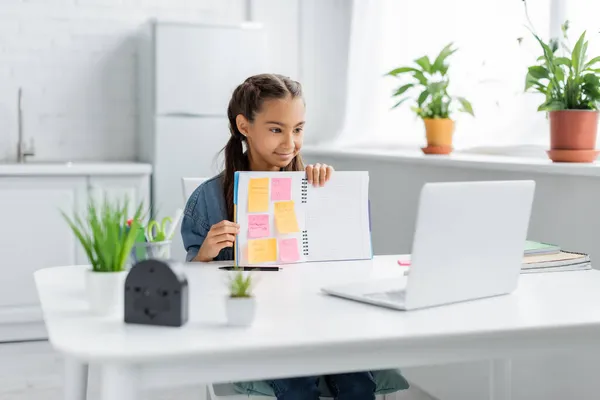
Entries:
{"label": "white kitchen cabinet under the counter, behind the spiky table plant", "polygon": [[33,280],[41,268],[87,264],[65,222],[90,197],[149,206],[150,175],[0,176],[0,342],[46,337]]}

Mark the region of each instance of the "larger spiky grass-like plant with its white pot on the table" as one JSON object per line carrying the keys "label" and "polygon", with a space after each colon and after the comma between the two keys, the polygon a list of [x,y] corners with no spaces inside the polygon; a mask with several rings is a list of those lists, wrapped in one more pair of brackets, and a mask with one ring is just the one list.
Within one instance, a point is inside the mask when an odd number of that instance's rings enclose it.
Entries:
{"label": "larger spiky grass-like plant with its white pot on the table", "polygon": [[106,198],[98,208],[92,199],[87,215],[62,213],[91,264],[85,272],[90,309],[98,315],[112,314],[121,304],[127,272],[126,264],[140,228],[142,205],[127,226],[128,202],[112,204]]}

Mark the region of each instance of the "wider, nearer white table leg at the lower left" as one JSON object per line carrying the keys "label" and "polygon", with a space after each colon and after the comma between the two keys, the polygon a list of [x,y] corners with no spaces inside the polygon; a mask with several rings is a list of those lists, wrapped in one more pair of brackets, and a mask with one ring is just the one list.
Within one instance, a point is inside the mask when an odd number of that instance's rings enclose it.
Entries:
{"label": "wider, nearer white table leg at the lower left", "polygon": [[132,365],[103,365],[101,400],[139,400],[138,371]]}

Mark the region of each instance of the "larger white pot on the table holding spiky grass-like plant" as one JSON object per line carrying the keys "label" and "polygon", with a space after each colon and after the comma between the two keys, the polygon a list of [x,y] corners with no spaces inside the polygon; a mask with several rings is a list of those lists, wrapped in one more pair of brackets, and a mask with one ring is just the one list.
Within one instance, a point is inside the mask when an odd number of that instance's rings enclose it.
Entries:
{"label": "larger white pot on the table holding spiky grass-like plant", "polygon": [[128,271],[94,272],[87,270],[85,289],[90,310],[96,315],[112,315],[123,308],[123,291]]}

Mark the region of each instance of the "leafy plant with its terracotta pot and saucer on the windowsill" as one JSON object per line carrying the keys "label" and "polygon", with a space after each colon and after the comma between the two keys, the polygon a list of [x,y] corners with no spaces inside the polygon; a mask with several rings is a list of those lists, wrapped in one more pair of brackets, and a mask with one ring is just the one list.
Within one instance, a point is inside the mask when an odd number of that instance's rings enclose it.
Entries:
{"label": "leafy plant with its terracotta pot and saucer on the windowsill", "polygon": [[600,104],[600,57],[588,61],[585,32],[571,50],[568,21],[562,25],[563,37],[544,42],[532,31],[543,54],[530,66],[525,91],[544,95],[538,111],[550,118],[549,158],[554,162],[592,162],[598,156],[596,133]]}

